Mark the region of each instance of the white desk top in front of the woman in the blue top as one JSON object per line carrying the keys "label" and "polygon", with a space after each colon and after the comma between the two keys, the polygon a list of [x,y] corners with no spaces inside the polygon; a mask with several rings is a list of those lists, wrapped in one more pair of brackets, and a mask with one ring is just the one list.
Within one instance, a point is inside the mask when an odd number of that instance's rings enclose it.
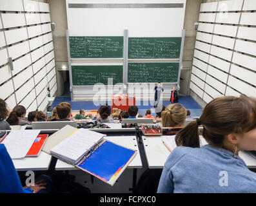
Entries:
{"label": "white desk top in front of the woman in the blue top", "polygon": [[[164,138],[164,136],[143,136],[144,150],[146,153],[148,167],[150,169],[163,168],[164,163],[170,155],[170,151],[168,151],[164,144],[162,144],[162,138]],[[201,141],[203,145],[207,144],[202,137]],[[239,156],[244,160],[248,168],[256,168],[256,159],[252,158],[249,154],[244,151],[240,151]]]}

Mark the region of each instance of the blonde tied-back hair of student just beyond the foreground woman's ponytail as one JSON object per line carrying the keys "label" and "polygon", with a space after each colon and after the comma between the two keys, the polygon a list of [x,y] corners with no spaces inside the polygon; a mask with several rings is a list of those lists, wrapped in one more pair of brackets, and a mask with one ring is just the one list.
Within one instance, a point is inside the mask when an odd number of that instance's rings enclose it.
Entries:
{"label": "blonde tied-back hair of student just beyond the foreground woman's ponytail", "polygon": [[181,104],[169,104],[161,116],[163,127],[181,126],[186,119],[186,108]]}

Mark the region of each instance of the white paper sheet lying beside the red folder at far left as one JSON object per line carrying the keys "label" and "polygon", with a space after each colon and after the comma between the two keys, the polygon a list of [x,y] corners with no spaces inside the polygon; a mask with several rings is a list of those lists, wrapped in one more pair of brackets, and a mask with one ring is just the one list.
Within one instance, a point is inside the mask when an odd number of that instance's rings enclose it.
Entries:
{"label": "white paper sheet lying beside the red folder at far left", "polygon": [[2,144],[5,144],[5,147],[10,154],[12,159],[23,158],[26,156],[26,153],[30,150],[30,147],[34,143],[37,135],[39,135],[40,130],[14,130],[6,136]]}

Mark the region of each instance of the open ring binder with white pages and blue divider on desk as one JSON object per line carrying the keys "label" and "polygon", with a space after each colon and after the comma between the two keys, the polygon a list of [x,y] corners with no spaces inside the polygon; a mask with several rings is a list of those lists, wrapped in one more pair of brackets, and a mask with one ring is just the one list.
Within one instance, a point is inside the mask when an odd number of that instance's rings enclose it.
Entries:
{"label": "open ring binder with white pages and blue divider on desk", "polygon": [[43,151],[113,185],[137,151],[104,140],[104,136],[65,126],[48,137]]}

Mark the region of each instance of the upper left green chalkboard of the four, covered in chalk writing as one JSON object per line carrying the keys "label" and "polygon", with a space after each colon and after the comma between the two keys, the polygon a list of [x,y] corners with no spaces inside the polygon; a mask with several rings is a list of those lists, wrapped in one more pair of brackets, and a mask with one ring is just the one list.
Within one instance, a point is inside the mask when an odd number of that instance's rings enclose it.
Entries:
{"label": "upper left green chalkboard of the four, covered in chalk writing", "polygon": [[124,37],[74,37],[70,58],[123,58]]}

